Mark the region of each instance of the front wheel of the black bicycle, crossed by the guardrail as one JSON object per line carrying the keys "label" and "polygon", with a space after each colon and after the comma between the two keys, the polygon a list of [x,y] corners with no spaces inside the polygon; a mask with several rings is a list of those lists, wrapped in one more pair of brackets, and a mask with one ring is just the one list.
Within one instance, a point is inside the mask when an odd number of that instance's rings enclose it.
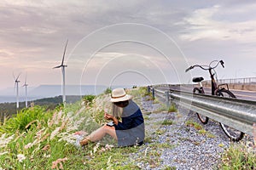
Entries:
{"label": "front wheel of the black bicycle, crossed by the guardrail", "polygon": [[[221,97],[228,97],[228,98],[236,98],[235,94],[230,92],[230,90],[227,89],[220,89],[215,92],[215,95],[221,96]],[[244,136],[244,133],[241,131],[236,130],[233,127],[229,127],[227,125],[224,125],[223,123],[219,122],[220,127],[223,129],[224,133],[234,142],[237,142],[241,140]]]}

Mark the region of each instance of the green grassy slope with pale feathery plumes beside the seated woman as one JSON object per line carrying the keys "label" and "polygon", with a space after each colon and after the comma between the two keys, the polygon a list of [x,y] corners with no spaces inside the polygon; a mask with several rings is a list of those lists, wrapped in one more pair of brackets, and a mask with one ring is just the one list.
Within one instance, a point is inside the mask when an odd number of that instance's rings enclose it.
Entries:
{"label": "green grassy slope with pale feathery plumes beside the seated woman", "polygon": [[109,138],[84,149],[74,145],[74,132],[92,132],[105,122],[104,109],[111,111],[108,94],[85,99],[55,110],[35,105],[4,122],[0,126],[0,169],[134,169],[135,165],[124,162],[138,148],[113,148],[115,143]]}

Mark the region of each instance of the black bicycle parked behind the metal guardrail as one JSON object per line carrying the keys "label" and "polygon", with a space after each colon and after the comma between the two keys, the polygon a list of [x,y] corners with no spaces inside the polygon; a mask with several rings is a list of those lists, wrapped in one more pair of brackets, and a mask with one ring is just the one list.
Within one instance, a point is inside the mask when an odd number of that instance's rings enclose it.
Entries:
{"label": "black bicycle parked behind the metal guardrail", "polygon": [[[213,63],[217,63],[217,64],[213,65]],[[186,72],[194,69],[195,67],[199,67],[204,71],[209,71],[209,74],[210,74],[210,77],[211,77],[212,95],[217,95],[217,96],[225,97],[225,98],[236,98],[235,94],[230,92],[228,84],[217,84],[217,82],[216,82],[217,72],[214,69],[218,66],[218,64],[221,64],[224,68],[224,61],[223,60],[213,60],[209,65],[192,65],[188,69],[186,69]],[[215,80],[214,77],[216,77],[216,80]],[[205,90],[202,86],[202,81],[203,80],[204,80],[203,77],[194,77],[193,78],[192,81],[193,82],[198,82],[199,85],[200,85],[199,88],[195,87],[193,89],[194,94],[205,94]],[[209,121],[209,118],[207,116],[203,116],[203,115],[201,115],[197,112],[196,112],[196,115],[198,116],[198,118],[200,119],[200,121],[203,124],[207,124],[207,122]],[[239,141],[243,138],[244,133],[242,133],[241,131],[238,131],[233,127],[226,126],[221,122],[219,122],[219,124],[222,127],[222,129],[224,130],[224,133],[232,141]]]}

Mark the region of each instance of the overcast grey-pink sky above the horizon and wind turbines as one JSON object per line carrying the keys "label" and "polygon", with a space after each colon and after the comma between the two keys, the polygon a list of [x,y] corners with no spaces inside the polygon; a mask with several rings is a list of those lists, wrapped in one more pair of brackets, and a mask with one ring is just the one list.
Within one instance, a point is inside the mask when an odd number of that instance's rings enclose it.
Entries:
{"label": "overcast grey-pink sky above the horizon and wind turbines", "polygon": [[[192,3],[193,2],[193,3]],[[0,89],[61,84],[187,83],[189,65],[223,59],[218,78],[256,77],[256,2],[0,2]]]}

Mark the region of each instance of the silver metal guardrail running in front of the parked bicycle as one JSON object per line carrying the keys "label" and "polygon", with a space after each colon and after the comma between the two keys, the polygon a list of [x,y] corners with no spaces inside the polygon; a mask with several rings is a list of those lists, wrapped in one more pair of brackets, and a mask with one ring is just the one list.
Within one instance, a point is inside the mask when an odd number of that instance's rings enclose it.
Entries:
{"label": "silver metal guardrail running in front of the parked bicycle", "polygon": [[[207,94],[192,94],[182,91],[160,91],[154,89],[155,94],[178,102],[189,110],[199,112],[201,115],[222,122],[225,125],[253,136],[256,127],[256,101],[243,99],[230,99]],[[254,127],[254,131],[253,131]]]}

